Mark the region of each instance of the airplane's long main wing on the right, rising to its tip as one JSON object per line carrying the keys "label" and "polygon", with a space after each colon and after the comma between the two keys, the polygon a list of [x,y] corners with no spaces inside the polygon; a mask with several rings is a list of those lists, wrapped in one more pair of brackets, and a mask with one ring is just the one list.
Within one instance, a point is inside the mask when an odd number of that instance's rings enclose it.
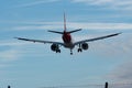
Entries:
{"label": "airplane's long main wing on the right, rising to its tip", "polygon": [[94,42],[94,41],[98,41],[98,40],[103,40],[103,38],[117,36],[119,34],[121,34],[121,33],[114,33],[114,34],[106,35],[106,36],[100,36],[100,37],[95,37],[95,38],[89,38],[89,40],[82,40],[82,41],[76,42],[75,45],[78,45],[78,44],[81,44],[81,43],[85,43],[85,42]]}

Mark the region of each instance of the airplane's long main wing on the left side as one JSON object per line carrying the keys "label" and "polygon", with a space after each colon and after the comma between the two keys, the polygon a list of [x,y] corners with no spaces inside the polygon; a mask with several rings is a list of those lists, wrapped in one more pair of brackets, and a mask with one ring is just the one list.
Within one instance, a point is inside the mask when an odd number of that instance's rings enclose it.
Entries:
{"label": "airplane's long main wing on the left side", "polygon": [[58,45],[63,45],[64,46],[64,43],[61,43],[61,42],[52,42],[52,41],[42,41],[42,40],[30,40],[30,38],[23,38],[23,37],[14,37],[14,38],[18,38],[18,40],[22,40],[22,41],[29,41],[29,42],[37,42],[37,43],[48,43],[48,44],[58,44]]}

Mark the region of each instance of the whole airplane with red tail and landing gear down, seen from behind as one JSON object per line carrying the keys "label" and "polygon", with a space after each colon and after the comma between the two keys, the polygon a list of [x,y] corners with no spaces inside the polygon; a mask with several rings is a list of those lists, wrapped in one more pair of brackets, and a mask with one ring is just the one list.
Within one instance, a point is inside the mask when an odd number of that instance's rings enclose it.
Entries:
{"label": "whole airplane with red tail and landing gear down, seen from behind", "polygon": [[114,34],[109,34],[109,35],[105,35],[105,36],[100,36],[100,37],[94,37],[94,38],[87,38],[87,40],[81,40],[78,42],[73,42],[73,37],[72,37],[72,33],[81,31],[81,29],[78,30],[73,30],[73,31],[67,31],[66,28],[66,16],[64,13],[64,31],[63,32],[58,32],[58,31],[52,31],[48,30],[48,32],[52,33],[57,33],[57,34],[62,34],[62,40],[63,42],[54,42],[54,41],[43,41],[43,40],[31,40],[31,38],[23,38],[23,37],[14,37],[18,40],[22,40],[22,41],[29,41],[29,42],[37,42],[37,43],[47,43],[47,44],[52,44],[51,45],[51,50],[55,53],[61,53],[61,46],[64,46],[65,48],[69,48],[70,50],[70,55],[73,55],[73,48],[75,46],[78,46],[77,52],[80,53],[82,51],[86,51],[89,48],[88,42],[94,42],[94,41],[98,41],[98,40],[103,40],[103,38],[108,38],[108,37],[112,37],[112,36],[117,36],[121,33],[114,33]]}

